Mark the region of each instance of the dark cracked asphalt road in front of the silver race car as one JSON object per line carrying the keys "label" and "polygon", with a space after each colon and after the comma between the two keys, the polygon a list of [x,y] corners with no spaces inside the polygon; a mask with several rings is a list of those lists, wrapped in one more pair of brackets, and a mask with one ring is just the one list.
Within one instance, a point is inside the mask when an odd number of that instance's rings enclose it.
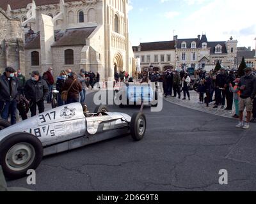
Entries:
{"label": "dark cracked asphalt road in front of the silver race car", "polygon": [[[93,110],[93,94],[88,106]],[[256,126],[236,129],[236,120],[197,112],[164,101],[150,112],[141,142],[131,136],[45,157],[36,170],[36,185],[26,178],[8,186],[36,191],[255,191]],[[111,112],[132,115],[140,107]],[[228,171],[228,185],[219,171]]]}

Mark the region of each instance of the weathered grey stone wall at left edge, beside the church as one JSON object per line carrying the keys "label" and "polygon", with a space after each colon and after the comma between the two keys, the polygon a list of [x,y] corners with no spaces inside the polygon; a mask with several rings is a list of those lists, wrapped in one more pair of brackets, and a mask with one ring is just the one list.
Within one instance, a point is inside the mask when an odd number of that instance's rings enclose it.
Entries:
{"label": "weathered grey stone wall at left edge, beside the church", "polygon": [[24,43],[20,20],[12,20],[0,8],[0,73],[6,66],[25,72]]}

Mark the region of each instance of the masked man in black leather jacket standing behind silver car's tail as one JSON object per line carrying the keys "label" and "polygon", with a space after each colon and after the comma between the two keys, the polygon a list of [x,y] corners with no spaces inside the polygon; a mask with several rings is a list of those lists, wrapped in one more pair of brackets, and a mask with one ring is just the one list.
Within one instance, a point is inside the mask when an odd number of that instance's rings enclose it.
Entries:
{"label": "masked man in black leather jacket standing behind silver car's tail", "polygon": [[31,73],[31,79],[29,79],[25,86],[25,96],[29,100],[31,117],[36,115],[36,106],[38,106],[39,113],[44,112],[44,101],[49,95],[49,87],[47,82],[40,77],[38,71]]}

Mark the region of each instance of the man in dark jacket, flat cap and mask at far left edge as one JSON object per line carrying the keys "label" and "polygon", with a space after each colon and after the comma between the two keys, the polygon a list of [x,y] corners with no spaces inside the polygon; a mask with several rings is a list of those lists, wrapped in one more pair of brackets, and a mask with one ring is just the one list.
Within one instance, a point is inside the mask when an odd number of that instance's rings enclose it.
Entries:
{"label": "man in dark jacket, flat cap and mask at far left edge", "polygon": [[15,69],[7,67],[0,77],[0,112],[4,120],[11,114],[11,124],[16,123],[17,98],[21,94],[21,87],[15,77]]}

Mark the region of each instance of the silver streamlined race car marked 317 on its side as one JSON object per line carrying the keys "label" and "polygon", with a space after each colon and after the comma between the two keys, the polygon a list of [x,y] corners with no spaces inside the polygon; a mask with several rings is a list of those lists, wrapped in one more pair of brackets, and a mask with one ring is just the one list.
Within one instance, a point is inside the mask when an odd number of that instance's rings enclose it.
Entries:
{"label": "silver streamlined race car marked 317 on its side", "polygon": [[0,120],[0,165],[6,177],[18,179],[35,170],[43,156],[125,134],[138,141],[146,126],[141,112],[130,117],[97,106],[95,113],[89,113],[81,103],[54,108],[13,126]]}

